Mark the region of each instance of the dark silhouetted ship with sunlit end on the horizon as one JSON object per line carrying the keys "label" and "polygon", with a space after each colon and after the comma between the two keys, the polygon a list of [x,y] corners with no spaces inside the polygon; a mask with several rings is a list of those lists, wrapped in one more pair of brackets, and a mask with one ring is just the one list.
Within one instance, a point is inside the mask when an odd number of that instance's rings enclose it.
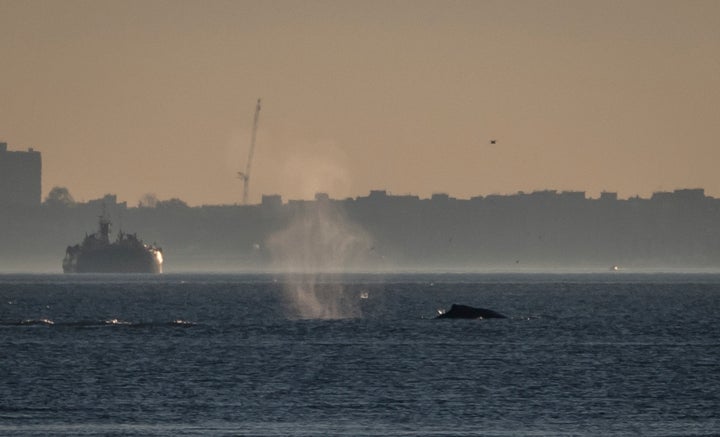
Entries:
{"label": "dark silhouetted ship with sunlit end on the horizon", "polygon": [[103,213],[98,232],[86,235],[81,244],[68,246],[63,259],[64,273],[162,273],[160,247],[122,231],[111,242],[110,224]]}

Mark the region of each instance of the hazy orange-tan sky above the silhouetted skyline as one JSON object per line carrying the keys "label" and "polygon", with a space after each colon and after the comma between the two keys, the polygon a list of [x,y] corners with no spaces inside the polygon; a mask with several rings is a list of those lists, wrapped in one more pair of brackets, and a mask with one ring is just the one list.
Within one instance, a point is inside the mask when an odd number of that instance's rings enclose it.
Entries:
{"label": "hazy orange-tan sky above the silhouetted skyline", "polygon": [[[0,0],[43,195],[720,197],[720,1]],[[489,141],[497,139],[497,144]]]}

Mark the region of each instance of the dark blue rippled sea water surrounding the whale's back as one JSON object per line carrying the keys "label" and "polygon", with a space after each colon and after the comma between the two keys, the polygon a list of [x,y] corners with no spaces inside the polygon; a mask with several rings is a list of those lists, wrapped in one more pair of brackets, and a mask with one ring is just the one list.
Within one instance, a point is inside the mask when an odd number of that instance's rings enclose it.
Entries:
{"label": "dark blue rippled sea water surrounding the whale's back", "polygon": [[0,435],[720,433],[720,276],[284,281],[0,276]]}

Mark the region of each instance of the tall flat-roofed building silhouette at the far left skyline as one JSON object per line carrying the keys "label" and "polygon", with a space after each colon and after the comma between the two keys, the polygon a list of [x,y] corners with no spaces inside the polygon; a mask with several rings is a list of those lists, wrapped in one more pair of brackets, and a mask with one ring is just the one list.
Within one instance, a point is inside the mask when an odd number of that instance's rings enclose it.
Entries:
{"label": "tall flat-roofed building silhouette at the far left skyline", "polygon": [[0,143],[0,206],[37,206],[42,200],[40,152],[10,152]]}

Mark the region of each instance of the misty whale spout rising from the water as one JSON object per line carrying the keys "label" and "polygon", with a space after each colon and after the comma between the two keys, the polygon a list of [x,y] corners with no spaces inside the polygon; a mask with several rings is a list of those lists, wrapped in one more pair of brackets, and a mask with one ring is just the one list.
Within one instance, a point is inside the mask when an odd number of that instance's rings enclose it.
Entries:
{"label": "misty whale spout rising from the water", "polygon": [[372,238],[330,202],[299,212],[267,241],[276,269],[284,273],[288,317],[345,319],[360,315],[358,296],[339,276],[365,265]]}

